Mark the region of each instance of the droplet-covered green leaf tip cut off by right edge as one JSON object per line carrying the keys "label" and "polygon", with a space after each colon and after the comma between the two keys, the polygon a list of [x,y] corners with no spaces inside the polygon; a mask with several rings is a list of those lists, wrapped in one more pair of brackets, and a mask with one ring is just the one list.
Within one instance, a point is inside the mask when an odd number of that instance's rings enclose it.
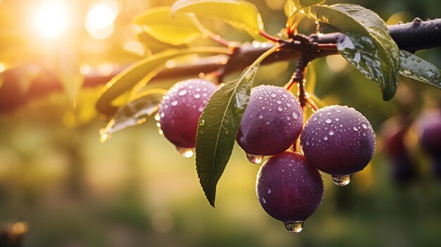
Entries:
{"label": "droplet-covered green leaf tip cut off by right edge", "polygon": [[401,75],[441,89],[441,70],[433,63],[403,50],[399,51],[399,58],[401,59],[399,67]]}

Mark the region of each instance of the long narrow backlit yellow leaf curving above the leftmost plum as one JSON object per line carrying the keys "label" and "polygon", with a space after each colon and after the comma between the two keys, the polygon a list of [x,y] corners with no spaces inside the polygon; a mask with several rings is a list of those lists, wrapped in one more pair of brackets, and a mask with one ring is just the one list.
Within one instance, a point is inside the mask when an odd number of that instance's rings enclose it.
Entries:
{"label": "long narrow backlit yellow leaf curving above the leftmost plum", "polygon": [[149,82],[152,77],[157,75],[163,65],[171,58],[182,56],[190,53],[228,53],[228,49],[218,47],[194,47],[181,50],[169,50],[157,53],[148,58],[144,58],[137,63],[130,65],[129,68],[120,72],[107,82],[104,86],[103,94],[97,101],[97,110],[105,115],[112,115],[116,112],[116,107],[111,105],[113,99],[132,89],[137,82],[143,80]]}

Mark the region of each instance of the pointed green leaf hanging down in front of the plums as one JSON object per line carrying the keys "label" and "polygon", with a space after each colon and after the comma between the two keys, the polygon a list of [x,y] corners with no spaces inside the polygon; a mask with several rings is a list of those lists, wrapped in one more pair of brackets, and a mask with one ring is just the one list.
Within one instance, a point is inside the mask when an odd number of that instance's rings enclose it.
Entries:
{"label": "pointed green leaf hanging down in front of the plums", "polygon": [[213,207],[216,184],[230,159],[257,68],[246,68],[239,79],[226,83],[216,91],[199,118],[196,138],[197,175]]}

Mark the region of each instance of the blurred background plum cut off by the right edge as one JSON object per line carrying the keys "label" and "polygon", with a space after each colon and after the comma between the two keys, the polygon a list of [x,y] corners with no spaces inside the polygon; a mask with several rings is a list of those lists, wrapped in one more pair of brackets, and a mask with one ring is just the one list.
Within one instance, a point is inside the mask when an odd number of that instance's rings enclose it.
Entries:
{"label": "blurred background plum cut off by the right edge", "polygon": [[426,110],[418,118],[420,142],[424,150],[436,156],[441,155],[441,110]]}

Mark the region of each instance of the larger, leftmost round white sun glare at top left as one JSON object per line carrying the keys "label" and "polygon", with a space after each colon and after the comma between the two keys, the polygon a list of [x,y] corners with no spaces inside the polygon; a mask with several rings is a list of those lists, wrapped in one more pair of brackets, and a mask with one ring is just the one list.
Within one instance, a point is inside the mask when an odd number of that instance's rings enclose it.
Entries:
{"label": "larger, leftmost round white sun glare at top left", "polygon": [[55,39],[68,27],[68,8],[64,1],[46,1],[35,9],[32,25],[44,39]]}

